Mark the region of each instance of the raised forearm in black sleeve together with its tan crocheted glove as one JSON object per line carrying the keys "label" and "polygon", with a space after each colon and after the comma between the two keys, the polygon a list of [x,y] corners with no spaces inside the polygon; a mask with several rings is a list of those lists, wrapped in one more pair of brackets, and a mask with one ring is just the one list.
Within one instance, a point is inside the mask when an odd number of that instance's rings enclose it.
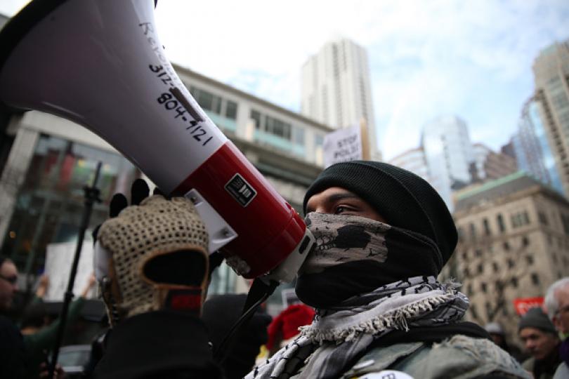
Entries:
{"label": "raised forearm in black sleeve together with its tan crocheted glove", "polygon": [[96,234],[95,273],[111,329],[93,378],[223,378],[200,319],[205,225],[190,200],[148,197],[148,185],[138,183],[131,206],[113,197],[111,218]]}

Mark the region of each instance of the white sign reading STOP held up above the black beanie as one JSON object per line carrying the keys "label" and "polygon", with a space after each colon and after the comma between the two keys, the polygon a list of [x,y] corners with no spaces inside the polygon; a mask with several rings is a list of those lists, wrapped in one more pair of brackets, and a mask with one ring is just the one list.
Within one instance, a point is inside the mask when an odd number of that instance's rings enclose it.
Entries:
{"label": "white sign reading STOP held up above the black beanie", "polygon": [[360,126],[342,128],[324,138],[324,166],[363,159],[362,131]]}

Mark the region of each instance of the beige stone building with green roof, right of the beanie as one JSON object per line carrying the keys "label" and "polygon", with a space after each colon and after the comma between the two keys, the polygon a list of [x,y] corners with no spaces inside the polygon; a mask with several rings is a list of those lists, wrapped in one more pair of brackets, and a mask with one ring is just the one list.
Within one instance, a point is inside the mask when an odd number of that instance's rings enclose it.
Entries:
{"label": "beige stone building with green roof, right of the beanie", "polygon": [[525,173],[456,195],[459,244],[443,276],[462,282],[469,319],[497,321],[516,340],[514,299],[543,296],[569,275],[569,201]]}

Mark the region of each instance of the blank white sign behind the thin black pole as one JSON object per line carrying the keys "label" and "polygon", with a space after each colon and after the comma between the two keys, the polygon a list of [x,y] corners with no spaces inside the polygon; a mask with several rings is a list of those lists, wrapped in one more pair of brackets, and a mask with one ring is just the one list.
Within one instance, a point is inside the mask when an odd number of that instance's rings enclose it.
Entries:
{"label": "blank white sign behind the thin black pole", "polygon": [[[71,273],[71,265],[75,256],[77,242],[48,244],[46,251],[46,266],[44,273],[49,277],[48,291],[44,300],[63,301],[67,283]],[[77,265],[77,274],[73,286],[74,295],[85,288],[89,275],[93,273],[93,242],[84,242]]]}

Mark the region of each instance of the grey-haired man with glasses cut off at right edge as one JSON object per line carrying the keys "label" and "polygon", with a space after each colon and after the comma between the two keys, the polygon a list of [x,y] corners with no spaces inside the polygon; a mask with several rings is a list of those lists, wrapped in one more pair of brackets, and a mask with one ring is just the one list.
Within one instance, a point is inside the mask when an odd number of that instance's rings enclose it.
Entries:
{"label": "grey-haired man with glasses cut off at right edge", "polygon": [[569,277],[559,279],[549,286],[544,307],[563,340],[559,349],[562,362],[554,379],[569,378]]}

